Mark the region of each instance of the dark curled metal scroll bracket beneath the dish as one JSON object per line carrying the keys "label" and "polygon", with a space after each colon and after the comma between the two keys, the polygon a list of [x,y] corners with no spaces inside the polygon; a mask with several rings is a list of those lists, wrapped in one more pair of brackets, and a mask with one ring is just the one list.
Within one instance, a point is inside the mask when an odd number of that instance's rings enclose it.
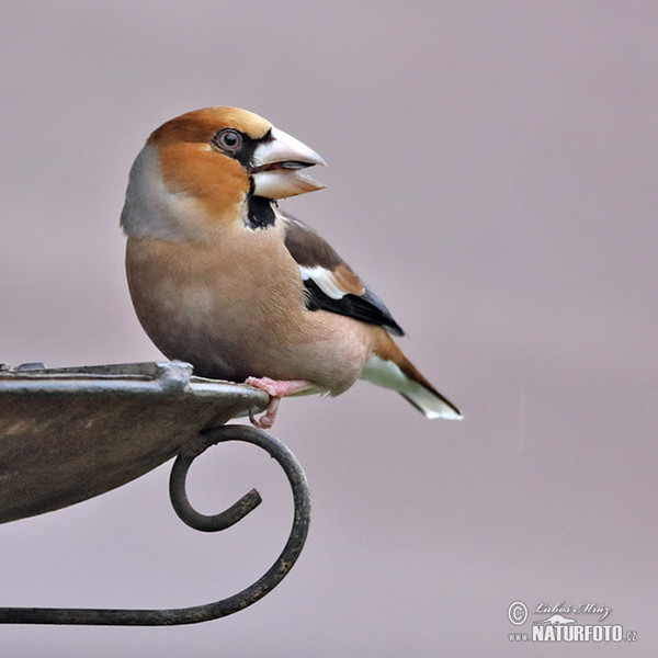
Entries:
{"label": "dark curled metal scroll bracket beneath the dish", "polygon": [[185,477],[192,462],[207,447],[224,441],[245,441],[266,451],[283,468],[294,499],[294,520],[288,540],[274,564],[242,591],[203,605],[163,610],[112,610],[82,608],[0,608],[0,624],[87,624],[99,626],[171,626],[195,624],[239,612],[262,599],[291,570],[304,546],[310,521],[310,498],[306,476],[295,455],[280,441],[247,426],[224,426],[200,435],[198,446],[181,453],[170,477],[171,503],[188,525],[204,532],[229,527],[261,502],[252,489],[226,511],[206,517],[188,501]]}

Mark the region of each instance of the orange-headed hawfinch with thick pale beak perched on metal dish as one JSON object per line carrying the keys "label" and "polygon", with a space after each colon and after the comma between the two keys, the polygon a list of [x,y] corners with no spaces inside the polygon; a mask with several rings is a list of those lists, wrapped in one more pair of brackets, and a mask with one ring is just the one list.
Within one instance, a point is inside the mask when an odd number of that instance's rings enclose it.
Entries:
{"label": "orange-headed hawfinch with thick pale beak perched on metal dish", "polygon": [[393,389],[427,418],[461,411],[405,356],[384,302],[282,198],[325,188],[325,160],[262,116],[194,110],[148,137],[128,175],[121,226],[139,322],[195,375],[245,383],[269,404],[345,392],[358,379]]}

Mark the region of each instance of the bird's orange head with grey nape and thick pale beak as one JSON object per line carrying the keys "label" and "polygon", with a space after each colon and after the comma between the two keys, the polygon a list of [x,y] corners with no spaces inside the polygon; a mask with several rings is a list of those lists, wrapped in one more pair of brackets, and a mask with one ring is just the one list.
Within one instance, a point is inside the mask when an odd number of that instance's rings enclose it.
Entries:
{"label": "bird's orange head with grey nape and thick pale beak", "polygon": [[128,235],[175,238],[174,215],[190,215],[193,205],[219,217],[248,196],[274,201],[321,190],[305,172],[314,164],[326,162],[258,114],[195,110],[151,133],[131,171],[122,225]]}

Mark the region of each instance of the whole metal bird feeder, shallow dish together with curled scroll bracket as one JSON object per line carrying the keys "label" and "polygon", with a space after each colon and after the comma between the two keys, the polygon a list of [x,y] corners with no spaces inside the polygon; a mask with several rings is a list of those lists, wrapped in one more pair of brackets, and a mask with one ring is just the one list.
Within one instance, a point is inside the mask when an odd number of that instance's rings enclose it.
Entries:
{"label": "whole metal bird feeder, shallow dish together with curled scroll bracket", "polygon": [[173,509],[188,525],[224,530],[261,502],[251,489],[229,509],[192,508],[185,476],[207,447],[243,441],[266,451],[286,474],[294,520],[272,567],[241,592],[203,605],[166,610],[0,608],[2,624],[156,626],[218,619],[270,592],[295,564],[308,532],[306,477],[292,452],[248,426],[225,423],[263,409],[269,397],[249,386],[192,375],[182,362],[45,368],[0,365],[0,523],[80,502],[120,487],[175,457]]}

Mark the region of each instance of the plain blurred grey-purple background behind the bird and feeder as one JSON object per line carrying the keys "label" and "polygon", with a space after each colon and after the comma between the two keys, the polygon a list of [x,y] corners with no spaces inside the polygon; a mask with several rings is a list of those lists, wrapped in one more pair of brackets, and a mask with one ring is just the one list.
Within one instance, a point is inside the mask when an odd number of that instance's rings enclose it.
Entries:
{"label": "plain blurred grey-purple background behind the bird and feeder", "polygon": [[[163,121],[230,104],[329,161],[285,208],[466,418],[366,384],[284,401],[314,517],[281,587],[197,626],[0,627],[2,655],[655,655],[657,71],[651,1],[3,2],[0,361],[160,358],[123,272],[128,169]],[[0,527],[0,605],[191,605],[260,576],[290,523],[275,466],[200,461],[203,511],[265,498],[209,536],[168,472]],[[512,644],[515,600],[608,605],[637,642]]]}

